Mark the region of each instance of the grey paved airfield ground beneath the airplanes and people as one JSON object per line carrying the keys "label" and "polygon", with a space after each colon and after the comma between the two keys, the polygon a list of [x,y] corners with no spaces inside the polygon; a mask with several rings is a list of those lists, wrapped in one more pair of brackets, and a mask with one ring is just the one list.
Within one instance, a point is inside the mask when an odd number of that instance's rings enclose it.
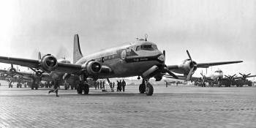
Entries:
{"label": "grey paved airfield ground beneath the airplanes and people", "polygon": [[[62,87],[63,88],[63,87]],[[0,127],[256,127],[256,88],[154,86],[88,95],[0,86]]]}

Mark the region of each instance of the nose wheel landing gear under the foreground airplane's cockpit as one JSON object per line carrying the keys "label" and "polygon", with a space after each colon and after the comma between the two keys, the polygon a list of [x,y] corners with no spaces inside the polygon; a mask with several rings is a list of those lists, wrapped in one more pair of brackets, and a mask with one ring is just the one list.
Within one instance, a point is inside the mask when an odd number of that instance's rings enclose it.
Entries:
{"label": "nose wheel landing gear under the foreground airplane's cockpit", "polygon": [[147,96],[152,96],[154,92],[154,88],[151,85],[151,83],[148,82],[148,80],[143,79],[142,83],[139,86],[139,91],[140,91],[140,94],[144,94],[144,92],[146,92]]}

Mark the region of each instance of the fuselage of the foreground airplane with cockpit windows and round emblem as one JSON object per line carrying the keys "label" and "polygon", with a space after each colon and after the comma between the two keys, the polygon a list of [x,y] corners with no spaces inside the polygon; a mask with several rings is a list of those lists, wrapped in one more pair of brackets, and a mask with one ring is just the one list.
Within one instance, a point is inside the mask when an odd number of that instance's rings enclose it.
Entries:
{"label": "fuselage of the foreground airplane with cockpit windows and round emblem", "polygon": [[142,75],[150,67],[162,64],[162,52],[153,42],[138,40],[116,48],[110,48],[83,56],[76,64],[83,65],[86,61],[94,59],[99,64],[110,67],[112,72],[108,75],[99,75],[99,78],[125,78]]}

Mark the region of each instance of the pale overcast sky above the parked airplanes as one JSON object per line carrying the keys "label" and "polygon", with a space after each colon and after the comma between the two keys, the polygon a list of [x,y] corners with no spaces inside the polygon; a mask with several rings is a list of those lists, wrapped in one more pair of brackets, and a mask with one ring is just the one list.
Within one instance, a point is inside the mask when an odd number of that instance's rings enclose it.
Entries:
{"label": "pale overcast sky above the parked airplanes", "polygon": [[62,48],[72,60],[74,34],[84,55],[148,34],[166,50],[166,64],[187,59],[189,50],[197,63],[244,61],[213,70],[256,74],[256,1],[6,0],[0,16],[0,56],[37,59],[39,50]]}

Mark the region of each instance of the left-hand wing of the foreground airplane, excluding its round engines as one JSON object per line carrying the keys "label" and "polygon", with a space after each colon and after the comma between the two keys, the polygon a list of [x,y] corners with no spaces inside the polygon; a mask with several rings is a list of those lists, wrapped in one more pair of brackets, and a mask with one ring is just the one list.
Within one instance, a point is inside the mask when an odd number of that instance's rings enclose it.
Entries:
{"label": "left-hand wing of the foreground airplane, excluding its round engines", "polygon": [[[23,67],[31,67],[31,68],[39,68],[41,67],[41,60],[35,59],[20,59],[20,58],[11,58],[0,56],[0,62],[6,64],[16,64]],[[78,64],[66,64],[66,63],[58,63],[58,67],[56,68],[59,72],[69,72],[69,73],[76,73],[82,69],[81,65]]]}

